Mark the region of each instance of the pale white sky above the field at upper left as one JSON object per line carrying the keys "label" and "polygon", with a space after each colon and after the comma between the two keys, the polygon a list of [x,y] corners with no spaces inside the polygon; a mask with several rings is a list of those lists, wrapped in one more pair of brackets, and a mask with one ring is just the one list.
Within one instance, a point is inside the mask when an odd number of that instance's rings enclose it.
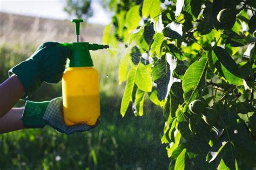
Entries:
{"label": "pale white sky above the field at upper left", "polygon": [[[0,0],[0,12],[44,18],[71,19],[63,11],[64,4],[65,0]],[[88,20],[89,23],[106,25],[111,22],[110,12],[103,9],[98,0],[92,0],[91,7],[94,12]]]}

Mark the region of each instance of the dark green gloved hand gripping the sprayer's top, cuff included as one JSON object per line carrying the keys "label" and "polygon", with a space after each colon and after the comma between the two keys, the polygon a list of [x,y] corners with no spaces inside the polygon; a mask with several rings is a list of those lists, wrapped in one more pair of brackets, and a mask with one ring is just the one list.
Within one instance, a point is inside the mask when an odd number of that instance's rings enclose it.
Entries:
{"label": "dark green gloved hand gripping the sprayer's top, cuff included", "polygon": [[32,96],[43,82],[58,83],[65,70],[69,48],[58,42],[45,42],[30,58],[9,70],[9,76],[16,74],[25,88],[23,99]]}

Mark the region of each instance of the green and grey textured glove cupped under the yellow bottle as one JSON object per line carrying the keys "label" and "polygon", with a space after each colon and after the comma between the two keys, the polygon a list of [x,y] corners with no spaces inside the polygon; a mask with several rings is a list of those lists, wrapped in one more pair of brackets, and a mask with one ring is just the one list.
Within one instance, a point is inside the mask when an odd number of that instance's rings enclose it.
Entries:
{"label": "green and grey textured glove cupped under the yellow bottle", "polygon": [[77,131],[88,131],[98,125],[78,124],[67,126],[63,118],[62,97],[46,102],[26,101],[21,120],[25,128],[43,128],[46,124],[59,132],[71,134]]}

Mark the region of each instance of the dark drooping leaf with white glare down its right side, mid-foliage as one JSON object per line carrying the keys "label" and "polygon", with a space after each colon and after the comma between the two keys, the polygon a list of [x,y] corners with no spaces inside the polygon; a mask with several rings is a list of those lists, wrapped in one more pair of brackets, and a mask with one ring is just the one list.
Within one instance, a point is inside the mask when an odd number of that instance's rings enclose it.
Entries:
{"label": "dark drooping leaf with white glare down its right side, mid-foliage", "polygon": [[152,78],[154,83],[157,84],[157,97],[159,101],[163,101],[168,96],[172,83],[173,70],[176,68],[176,61],[170,54],[161,57],[157,60],[152,69]]}

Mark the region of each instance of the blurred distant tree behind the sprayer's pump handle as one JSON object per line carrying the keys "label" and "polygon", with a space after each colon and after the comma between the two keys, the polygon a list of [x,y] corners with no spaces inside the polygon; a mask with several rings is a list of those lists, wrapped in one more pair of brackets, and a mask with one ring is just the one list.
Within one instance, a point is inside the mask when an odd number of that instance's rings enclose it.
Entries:
{"label": "blurred distant tree behind the sprayer's pump handle", "polygon": [[64,11],[70,16],[76,16],[85,20],[93,14],[91,9],[91,0],[66,0]]}

